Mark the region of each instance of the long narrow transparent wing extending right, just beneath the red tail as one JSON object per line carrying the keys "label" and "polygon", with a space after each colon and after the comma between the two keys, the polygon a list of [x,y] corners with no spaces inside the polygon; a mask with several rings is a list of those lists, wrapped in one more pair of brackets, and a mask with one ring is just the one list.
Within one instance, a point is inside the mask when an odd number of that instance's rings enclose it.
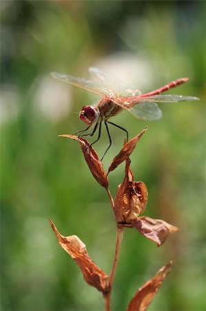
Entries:
{"label": "long narrow transparent wing extending right, just beneath the red tail", "polygon": [[[194,100],[199,100],[198,97],[193,96],[183,96],[183,95],[153,95],[153,96],[147,96],[142,97],[144,100],[147,100],[148,102],[192,102]],[[141,96],[138,98],[138,100],[141,99]],[[127,100],[128,101],[128,100]],[[134,101],[134,99],[132,100]],[[128,101],[132,103],[132,101]]]}

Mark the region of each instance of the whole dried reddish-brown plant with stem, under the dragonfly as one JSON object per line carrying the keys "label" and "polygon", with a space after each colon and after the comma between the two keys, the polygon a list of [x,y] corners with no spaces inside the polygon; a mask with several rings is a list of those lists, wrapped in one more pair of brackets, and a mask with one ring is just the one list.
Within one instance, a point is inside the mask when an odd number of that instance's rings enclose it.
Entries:
{"label": "whole dried reddish-brown plant with stem, under the dragonfly", "polygon": [[[121,241],[125,228],[135,228],[146,238],[155,242],[158,246],[162,245],[169,234],[178,232],[178,228],[169,225],[164,220],[152,219],[148,216],[140,216],[147,206],[147,187],[142,181],[135,181],[134,174],[130,167],[130,155],[134,151],[138,140],[147,130],[144,129],[136,135],[132,140],[126,142],[123,149],[112,160],[108,172],[105,173],[103,165],[93,147],[87,140],[76,135],[59,135],[65,138],[78,140],[85,157],[87,165],[99,185],[105,188],[110,198],[110,204],[116,220],[116,247],[114,254],[114,261],[110,275],[107,275],[101,268],[99,268],[87,253],[85,244],[78,238],[78,236],[62,236],[59,234],[52,220],[50,225],[59,240],[59,244],[65,252],[67,252],[76,264],[81,269],[83,279],[92,285],[96,290],[103,294],[105,301],[105,310],[112,310],[111,307],[111,292],[116,272],[116,265],[119,258],[119,251],[121,248]],[[109,180],[108,174],[116,169],[122,162],[125,162],[125,176],[123,182],[116,191],[116,196],[113,199],[108,188]],[[172,267],[172,261],[161,267],[155,276],[147,281],[134,295],[130,301],[127,311],[145,311],[152,302],[156,292],[160,288],[165,276],[169,274]]]}

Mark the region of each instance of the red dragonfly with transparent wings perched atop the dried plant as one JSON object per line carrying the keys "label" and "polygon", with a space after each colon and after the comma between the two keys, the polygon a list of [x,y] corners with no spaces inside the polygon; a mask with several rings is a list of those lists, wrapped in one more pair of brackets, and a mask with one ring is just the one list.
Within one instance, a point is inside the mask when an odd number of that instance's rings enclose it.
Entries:
{"label": "red dragonfly with transparent wings perched atop the dried plant", "polygon": [[[101,97],[101,100],[99,100],[96,105],[85,105],[82,107],[79,112],[79,118],[87,124],[87,127],[86,129],[74,133],[81,137],[92,137],[99,128],[98,137],[92,142],[92,144],[94,144],[101,137],[101,126],[104,123],[110,143],[101,160],[103,160],[105,154],[112,145],[108,124],[125,131],[128,141],[128,131],[122,126],[111,122],[110,117],[118,115],[123,110],[127,110],[141,120],[158,120],[162,117],[162,111],[158,107],[157,102],[188,102],[199,100],[198,97],[193,96],[161,94],[187,82],[189,79],[188,77],[176,79],[149,93],[141,93],[137,88],[127,86],[127,84],[103,70],[90,67],[89,72],[93,76],[91,80],[73,77],[72,75],[64,75],[62,73],[53,72],[50,74],[56,79],[72,84],[73,86],[78,86],[79,88],[83,88]],[[82,134],[92,128],[92,126],[94,126],[92,133]],[[92,144],[90,144],[90,146],[92,146]]]}

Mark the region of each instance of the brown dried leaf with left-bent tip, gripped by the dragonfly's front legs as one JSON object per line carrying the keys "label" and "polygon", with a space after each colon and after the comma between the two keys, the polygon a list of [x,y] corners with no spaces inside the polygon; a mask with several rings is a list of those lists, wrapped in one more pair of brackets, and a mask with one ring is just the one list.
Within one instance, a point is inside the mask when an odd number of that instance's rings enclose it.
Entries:
{"label": "brown dried leaf with left-bent tip, gripped by the dragonfly's front legs", "polygon": [[96,151],[94,150],[94,148],[92,148],[92,146],[90,146],[90,143],[87,142],[87,140],[84,140],[83,138],[80,138],[76,135],[64,134],[59,135],[59,137],[72,138],[73,140],[79,141],[81,149],[83,151],[83,156],[85,157],[85,160],[92,175],[102,187],[105,187],[107,189],[109,185],[109,180],[106,176],[103,165],[99,160]]}

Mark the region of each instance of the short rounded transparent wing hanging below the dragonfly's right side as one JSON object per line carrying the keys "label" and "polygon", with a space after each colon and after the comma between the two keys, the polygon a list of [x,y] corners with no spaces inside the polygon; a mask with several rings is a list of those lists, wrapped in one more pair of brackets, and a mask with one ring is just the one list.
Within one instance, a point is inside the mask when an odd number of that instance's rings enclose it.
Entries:
{"label": "short rounded transparent wing hanging below the dragonfly's right side", "polygon": [[163,115],[155,102],[140,102],[127,111],[141,120],[158,120]]}

